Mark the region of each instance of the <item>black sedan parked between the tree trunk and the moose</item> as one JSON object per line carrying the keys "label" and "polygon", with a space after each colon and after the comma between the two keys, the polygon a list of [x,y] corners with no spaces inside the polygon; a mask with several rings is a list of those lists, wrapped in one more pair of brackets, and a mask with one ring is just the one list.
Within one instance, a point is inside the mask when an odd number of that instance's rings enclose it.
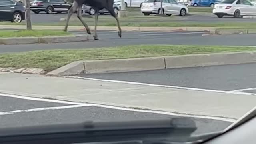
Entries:
{"label": "black sedan parked between the tree trunk and the moose", "polygon": [[71,4],[65,0],[34,0],[30,2],[30,10],[38,14],[39,12],[46,12],[52,14],[52,12],[68,12]]}

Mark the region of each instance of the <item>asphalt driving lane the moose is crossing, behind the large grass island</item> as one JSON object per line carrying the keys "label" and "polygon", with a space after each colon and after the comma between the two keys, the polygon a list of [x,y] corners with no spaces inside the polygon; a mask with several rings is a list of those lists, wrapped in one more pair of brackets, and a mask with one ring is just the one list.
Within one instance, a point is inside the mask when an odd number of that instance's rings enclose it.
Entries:
{"label": "asphalt driving lane the moose is crossing, behind the large grass island", "polygon": [[[76,34],[85,34],[84,30],[73,31]],[[256,46],[254,37],[256,34],[233,34],[233,35],[208,35],[207,32],[122,32],[122,38],[117,32],[98,32],[100,40],[90,40],[86,42],[55,43],[55,44],[20,44],[20,45],[0,45],[0,53],[5,52],[26,52],[32,50],[52,50],[52,49],[76,49],[76,48],[100,48],[111,46],[125,46],[137,44],[178,44],[178,45],[238,45]]]}

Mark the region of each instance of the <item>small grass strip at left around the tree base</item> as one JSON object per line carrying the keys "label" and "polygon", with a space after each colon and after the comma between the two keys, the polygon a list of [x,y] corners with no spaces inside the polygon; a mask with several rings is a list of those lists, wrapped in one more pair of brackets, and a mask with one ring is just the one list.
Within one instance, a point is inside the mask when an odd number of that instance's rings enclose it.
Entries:
{"label": "small grass strip at left around the tree base", "polygon": [[0,30],[0,38],[65,36],[70,34],[70,32],[64,32],[63,30]]}

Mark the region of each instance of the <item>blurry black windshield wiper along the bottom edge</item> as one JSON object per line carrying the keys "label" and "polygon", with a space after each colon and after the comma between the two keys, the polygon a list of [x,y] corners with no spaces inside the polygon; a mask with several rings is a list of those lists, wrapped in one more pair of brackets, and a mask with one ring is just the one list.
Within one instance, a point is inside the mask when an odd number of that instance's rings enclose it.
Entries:
{"label": "blurry black windshield wiper along the bottom edge", "polygon": [[68,144],[187,138],[196,130],[190,118],[129,122],[84,122],[0,129],[0,144]]}

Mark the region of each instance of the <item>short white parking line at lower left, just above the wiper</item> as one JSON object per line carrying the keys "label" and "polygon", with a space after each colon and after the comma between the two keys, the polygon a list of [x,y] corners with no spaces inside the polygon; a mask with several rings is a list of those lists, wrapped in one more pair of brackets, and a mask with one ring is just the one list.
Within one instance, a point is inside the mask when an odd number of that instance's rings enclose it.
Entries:
{"label": "short white parking line at lower left, just above the wiper", "polygon": [[0,116],[8,115],[8,114],[16,114],[21,112],[38,112],[43,110],[60,110],[60,109],[68,109],[68,108],[79,108],[83,106],[92,106],[92,104],[79,104],[79,105],[71,105],[71,106],[55,106],[55,107],[46,107],[46,108],[32,108],[28,110],[14,110],[8,112],[0,112]]}

